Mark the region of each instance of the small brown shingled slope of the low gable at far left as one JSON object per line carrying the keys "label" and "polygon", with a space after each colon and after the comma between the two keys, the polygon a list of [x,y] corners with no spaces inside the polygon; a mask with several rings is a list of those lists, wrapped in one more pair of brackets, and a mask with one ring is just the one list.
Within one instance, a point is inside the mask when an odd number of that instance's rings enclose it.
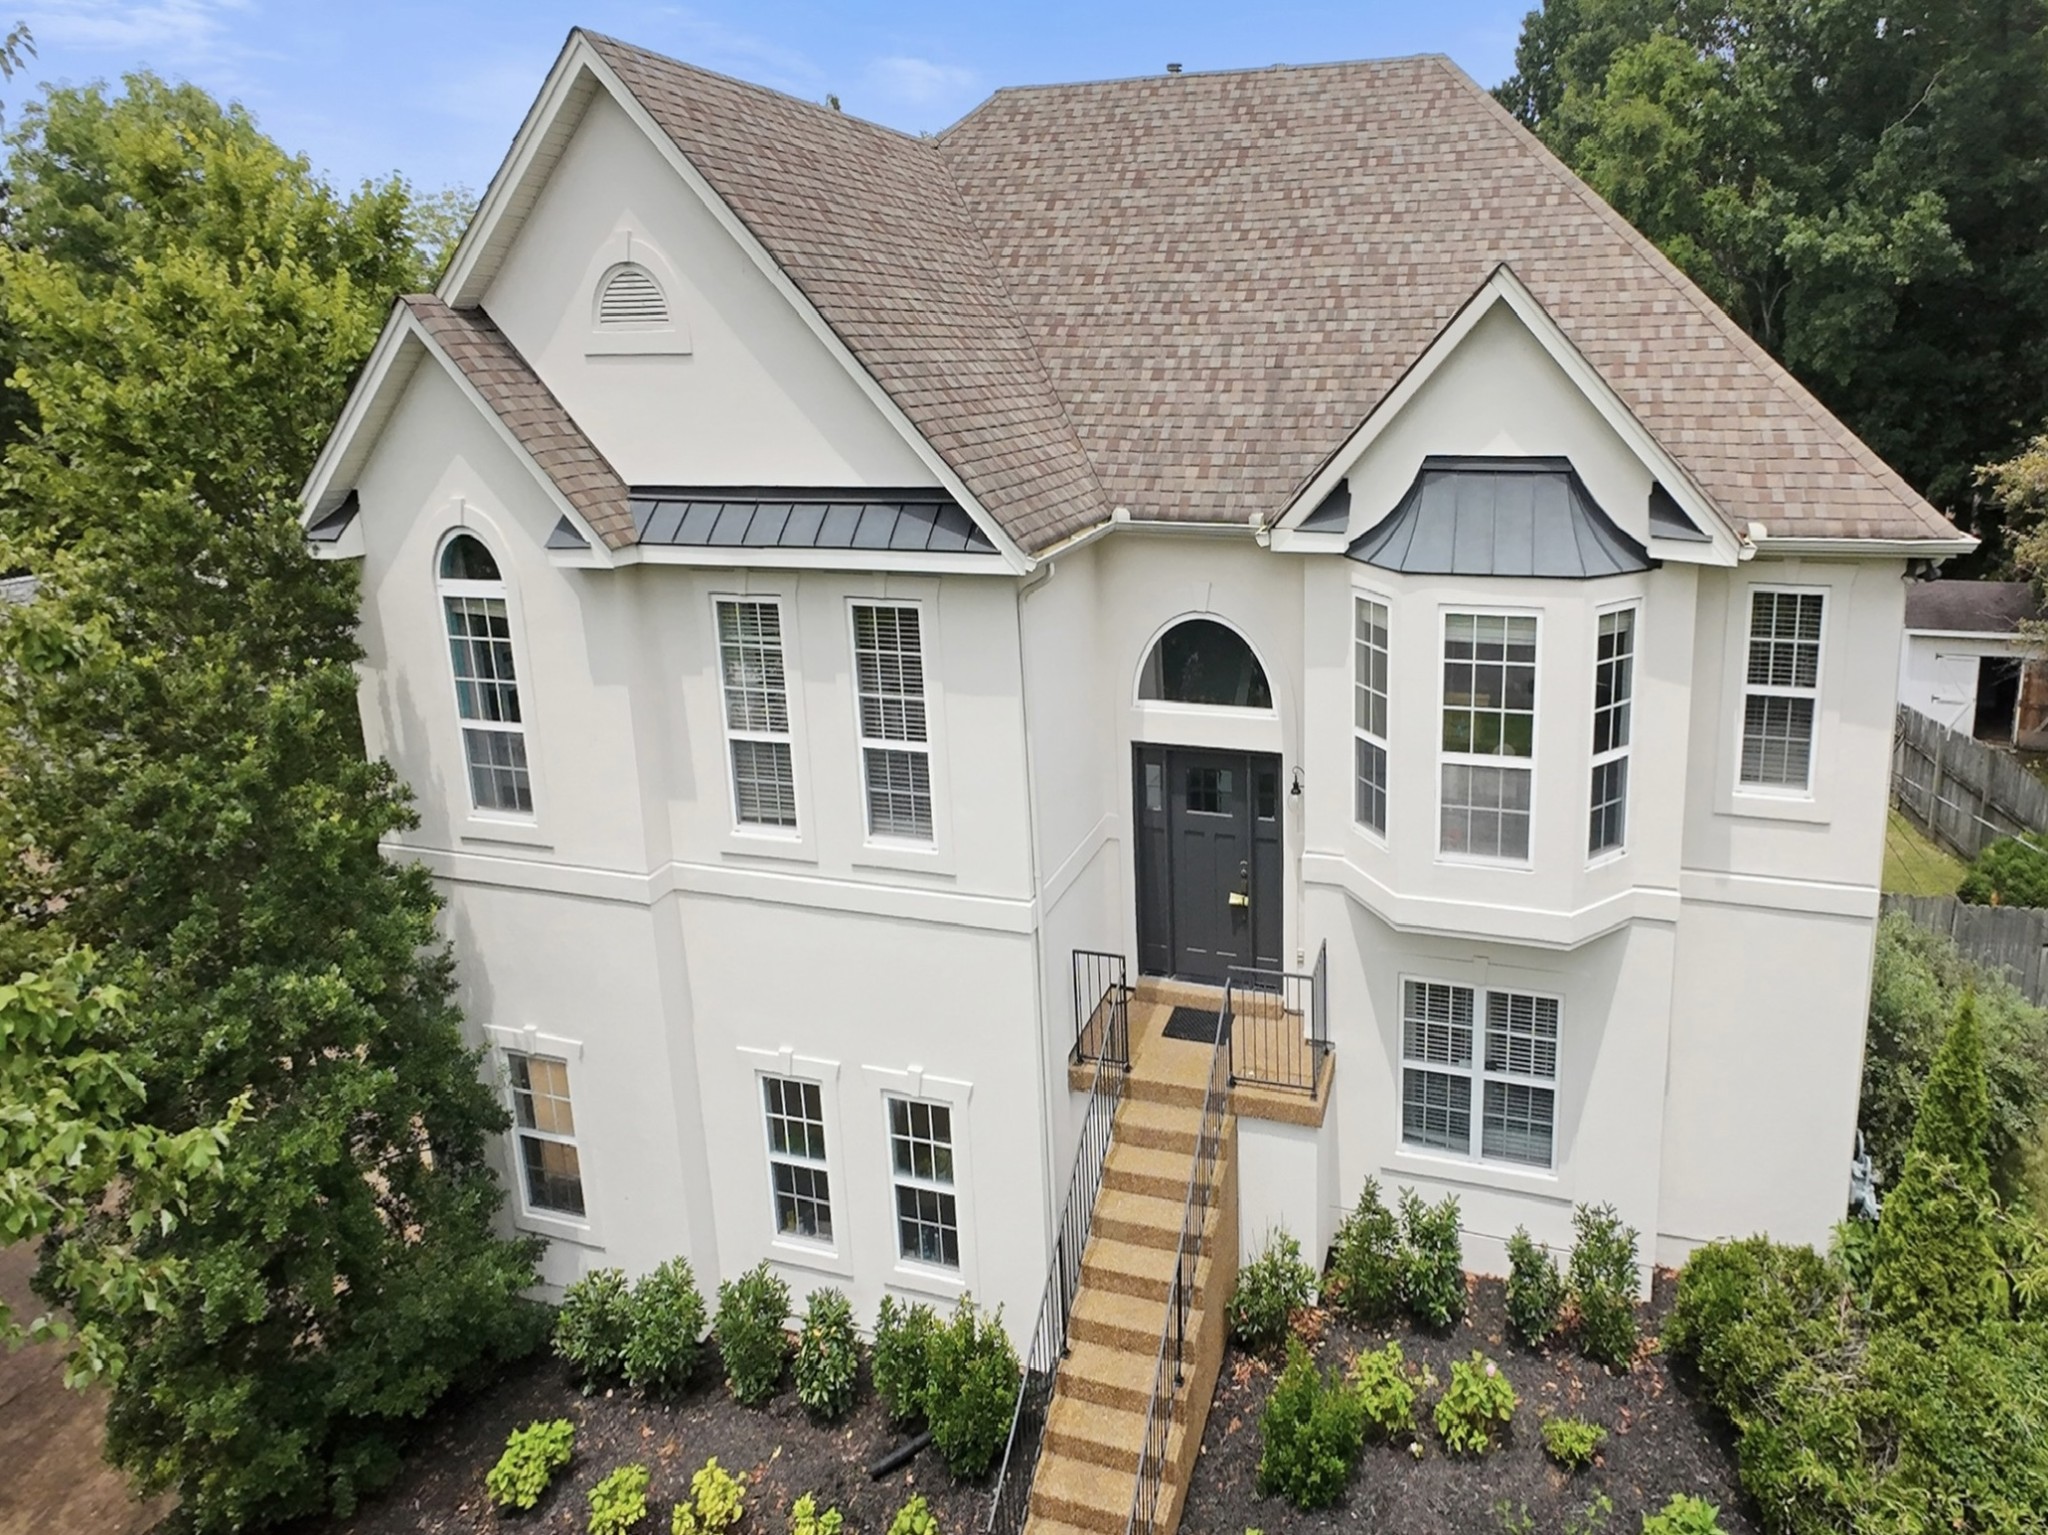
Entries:
{"label": "small brown shingled slope of the low gable at far left", "polygon": [[633,512],[627,508],[627,485],[618,471],[600,454],[584,428],[563,409],[555,393],[541,383],[518,348],[481,309],[451,309],[440,299],[414,293],[406,307],[463,377],[498,411],[498,420],[532,454],[555,489],[569,501],[596,534],[612,549],[633,542]]}

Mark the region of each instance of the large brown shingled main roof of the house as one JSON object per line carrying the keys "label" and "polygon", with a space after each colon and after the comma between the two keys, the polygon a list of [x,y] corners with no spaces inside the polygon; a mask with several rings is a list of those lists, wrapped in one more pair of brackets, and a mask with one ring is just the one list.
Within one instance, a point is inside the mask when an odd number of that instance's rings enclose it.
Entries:
{"label": "large brown shingled main roof of the house", "polygon": [[1448,59],[1001,90],[913,139],[586,37],[1028,553],[1276,518],[1501,264],[1733,526],[1956,536]]}

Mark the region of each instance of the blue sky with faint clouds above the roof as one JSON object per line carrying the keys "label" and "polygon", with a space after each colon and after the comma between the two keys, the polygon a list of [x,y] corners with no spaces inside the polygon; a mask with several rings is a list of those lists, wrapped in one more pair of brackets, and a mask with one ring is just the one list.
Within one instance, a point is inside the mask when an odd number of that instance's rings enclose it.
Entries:
{"label": "blue sky with faint clouds above the roof", "polygon": [[39,57],[6,92],[135,68],[242,100],[342,182],[401,172],[481,190],[571,25],[924,131],[995,86],[1448,53],[1483,84],[1534,0],[0,0]]}

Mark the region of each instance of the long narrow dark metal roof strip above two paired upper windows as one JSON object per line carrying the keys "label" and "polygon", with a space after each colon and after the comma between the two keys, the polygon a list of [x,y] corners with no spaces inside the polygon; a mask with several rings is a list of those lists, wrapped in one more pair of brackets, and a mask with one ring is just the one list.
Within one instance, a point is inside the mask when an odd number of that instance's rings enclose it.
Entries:
{"label": "long narrow dark metal roof strip above two paired upper windows", "polygon": [[995,553],[958,501],[932,489],[649,487],[631,508],[641,544]]}

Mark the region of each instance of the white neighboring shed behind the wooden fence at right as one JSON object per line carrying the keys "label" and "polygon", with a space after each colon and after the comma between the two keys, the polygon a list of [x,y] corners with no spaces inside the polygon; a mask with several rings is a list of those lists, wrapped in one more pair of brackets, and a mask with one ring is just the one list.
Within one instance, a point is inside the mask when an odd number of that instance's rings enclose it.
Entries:
{"label": "white neighboring shed behind the wooden fence at right", "polygon": [[2048,751],[2048,669],[2021,624],[2028,581],[1915,581],[1898,643],[1898,702],[1978,741]]}

